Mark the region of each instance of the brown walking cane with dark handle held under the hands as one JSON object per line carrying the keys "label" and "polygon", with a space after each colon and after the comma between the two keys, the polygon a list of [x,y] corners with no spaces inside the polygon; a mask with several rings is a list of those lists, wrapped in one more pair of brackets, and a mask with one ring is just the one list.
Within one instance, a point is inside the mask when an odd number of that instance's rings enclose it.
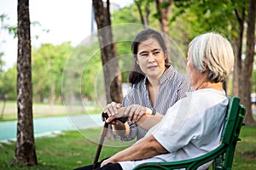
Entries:
{"label": "brown walking cane with dark handle held under the hands", "polygon": [[[93,164],[96,164],[99,160],[99,157],[100,157],[100,154],[101,154],[101,151],[102,151],[102,144],[103,144],[104,139],[106,137],[106,134],[108,132],[108,122],[106,122],[106,120],[108,119],[108,114],[107,113],[102,113],[102,117],[104,117],[105,122],[104,122],[104,127],[102,129],[101,139],[100,139],[100,142],[98,144],[98,148],[96,150],[96,156],[94,157]],[[125,123],[126,120],[127,120],[127,117],[120,117],[120,118],[117,118],[117,119],[114,119],[114,120],[119,120],[120,122]]]}

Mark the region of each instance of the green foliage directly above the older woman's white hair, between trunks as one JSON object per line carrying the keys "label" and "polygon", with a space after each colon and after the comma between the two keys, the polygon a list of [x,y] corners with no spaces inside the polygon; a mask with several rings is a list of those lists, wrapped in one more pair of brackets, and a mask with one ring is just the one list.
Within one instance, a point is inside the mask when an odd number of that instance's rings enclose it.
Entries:
{"label": "green foliage directly above the older woman's white hair, between trunks", "polygon": [[175,1],[170,35],[186,54],[189,42],[201,33],[217,31],[230,38],[234,20],[234,5],[230,0]]}

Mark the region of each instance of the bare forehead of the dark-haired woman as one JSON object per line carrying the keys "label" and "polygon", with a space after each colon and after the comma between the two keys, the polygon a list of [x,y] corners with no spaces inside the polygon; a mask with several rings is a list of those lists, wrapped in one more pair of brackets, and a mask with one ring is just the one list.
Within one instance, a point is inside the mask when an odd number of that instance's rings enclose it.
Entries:
{"label": "bare forehead of the dark-haired woman", "polygon": [[137,49],[138,49],[138,52],[140,52],[140,51],[151,51],[151,50],[154,50],[155,48],[162,50],[160,43],[156,39],[148,38],[147,40],[141,42],[138,45]]}

